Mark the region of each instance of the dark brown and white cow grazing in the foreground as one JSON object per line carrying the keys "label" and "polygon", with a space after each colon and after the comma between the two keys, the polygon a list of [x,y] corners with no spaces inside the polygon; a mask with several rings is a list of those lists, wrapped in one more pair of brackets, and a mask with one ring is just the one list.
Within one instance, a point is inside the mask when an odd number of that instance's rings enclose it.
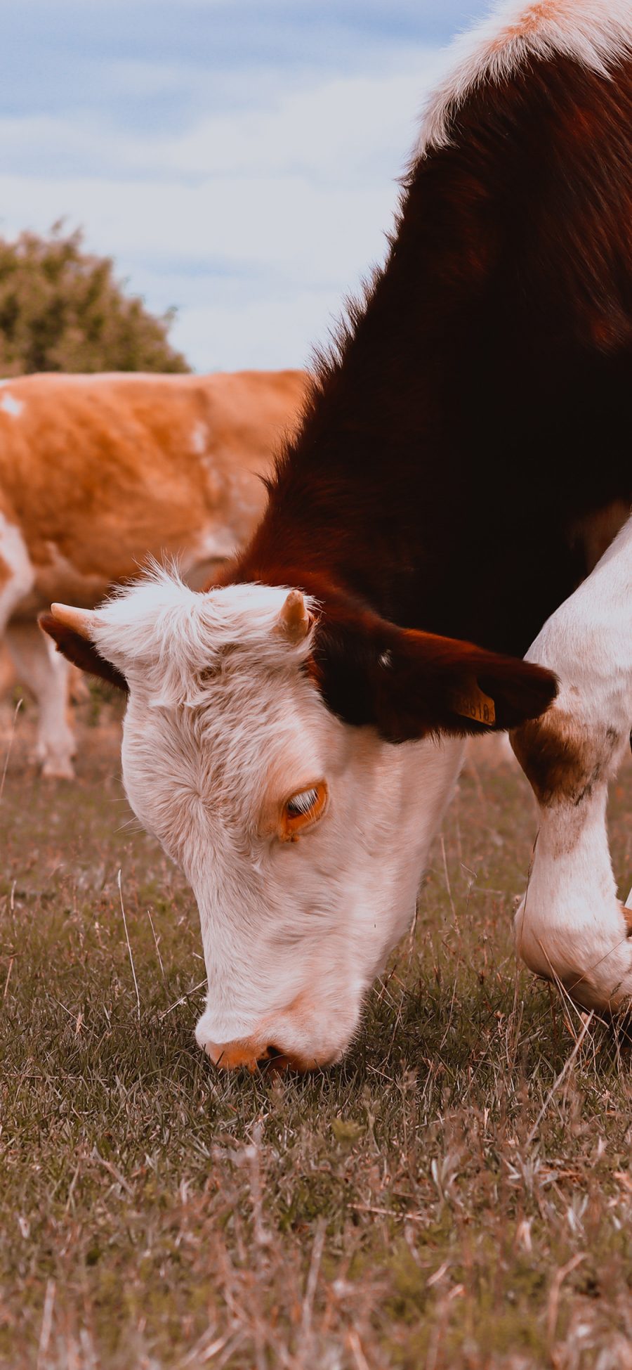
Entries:
{"label": "dark brown and white cow grazing in the foreground", "polygon": [[579,1003],[632,993],[605,829],[631,382],[632,0],[513,3],[428,107],[246,551],[204,593],[156,573],[47,621],[129,689],[124,784],[198,900],[218,1064],[339,1059],[486,729],[517,729],[540,807],[523,956]]}

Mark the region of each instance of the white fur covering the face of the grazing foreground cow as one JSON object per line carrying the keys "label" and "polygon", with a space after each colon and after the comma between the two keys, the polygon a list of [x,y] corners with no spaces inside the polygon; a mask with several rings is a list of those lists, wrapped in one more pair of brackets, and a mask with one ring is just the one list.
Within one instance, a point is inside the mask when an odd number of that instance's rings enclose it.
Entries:
{"label": "white fur covering the face of the grazing foreground cow", "polygon": [[[393,747],[339,722],[301,671],[309,640],[275,632],[286,595],[194,595],[155,574],[98,611],[94,641],[130,682],[130,804],[197,897],[198,1043],[216,1058],[246,1037],[326,1063],[410,922],[462,745]],[[271,815],[320,780],[326,815],[279,841]]]}

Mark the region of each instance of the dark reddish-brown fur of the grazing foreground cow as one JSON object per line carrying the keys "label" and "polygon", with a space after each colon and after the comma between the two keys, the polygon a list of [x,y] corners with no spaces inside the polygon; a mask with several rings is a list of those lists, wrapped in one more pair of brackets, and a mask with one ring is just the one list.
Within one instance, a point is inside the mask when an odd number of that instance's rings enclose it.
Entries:
{"label": "dark reddish-brown fur of the grazing foreground cow", "polygon": [[[390,741],[480,730],[472,686],[498,727],[546,710],[554,677],[510,658],[632,504],[632,62],[534,56],[447,132],[219,577],[312,593],[327,706]],[[573,803],[596,780],[581,738],[543,733],[534,764]]]}

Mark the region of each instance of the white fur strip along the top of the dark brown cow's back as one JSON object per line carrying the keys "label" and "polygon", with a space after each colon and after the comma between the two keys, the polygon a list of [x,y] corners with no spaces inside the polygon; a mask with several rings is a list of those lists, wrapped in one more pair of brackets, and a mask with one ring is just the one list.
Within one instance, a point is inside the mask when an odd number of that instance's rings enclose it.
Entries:
{"label": "white fur strip along the top of the dark brown cow's back", "polygon": [[607,75],[631,51],[632,0],[501,0],[483,23],[454,40],[454,64],[428,100],[417,151],[449,144],[453,115],[468,93],[509,78],[531,58],[559,53]]}

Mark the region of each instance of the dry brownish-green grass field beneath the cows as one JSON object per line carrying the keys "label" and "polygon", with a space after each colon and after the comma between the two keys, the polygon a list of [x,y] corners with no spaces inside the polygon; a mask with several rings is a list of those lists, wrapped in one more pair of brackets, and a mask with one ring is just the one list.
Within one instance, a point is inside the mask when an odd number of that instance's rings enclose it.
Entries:
{"label": "dry brownish-green grass field beneath the cows", "polygon": [[[629,1048],[516,971],[523,777],[464,773],[343,1064],[224,1075],[193,900],[103,714],[70,786],[21,712],[0,799],[0,1365],[631,1367]],[[625,892],[631,812],[628,764]]]}

